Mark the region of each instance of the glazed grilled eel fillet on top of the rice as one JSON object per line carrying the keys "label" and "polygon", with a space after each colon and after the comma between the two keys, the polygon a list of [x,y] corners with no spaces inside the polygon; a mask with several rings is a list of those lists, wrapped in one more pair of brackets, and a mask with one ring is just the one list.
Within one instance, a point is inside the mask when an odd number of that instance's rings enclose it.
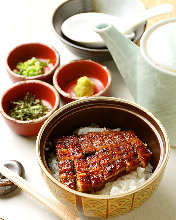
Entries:
{"label": "glazed grilled eel fillet on top of the rice", "polygon": [[105,183],[146,167],[152,153],[132,130],[89,132],[55,139],[60,182],[90,193]]}

